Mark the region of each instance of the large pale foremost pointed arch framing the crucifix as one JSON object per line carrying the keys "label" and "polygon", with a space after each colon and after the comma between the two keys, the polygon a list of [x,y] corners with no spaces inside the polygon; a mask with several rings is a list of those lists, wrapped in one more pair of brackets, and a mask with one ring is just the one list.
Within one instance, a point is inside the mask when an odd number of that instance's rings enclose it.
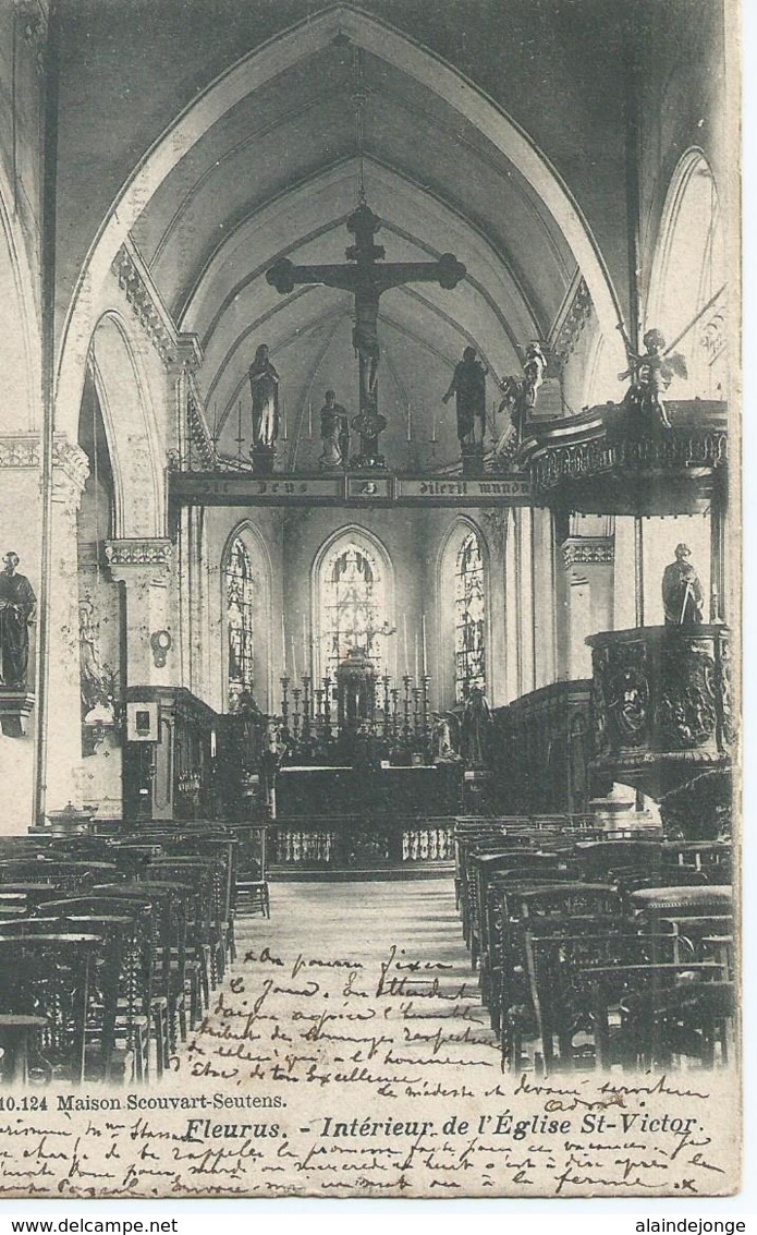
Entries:
{"label": "large pale foremost pointed arch framing the crucifix", "polygon": [[[257,91],[268,90],[277,79],[301,68],[309,57],[331,47],[337,36],[348,40],[389,70],[404,74],[414,88],[426,91],[435,107],[453,109],[461,122],[471,125],[490,143],[496,161],[504,158],[508,162],[519,183],[522,183],[525,196],[532,204],[537,203],[538,211],[543,214],[545,226],[540,236],[545,253],[557,254],[558,266],[562,263],[563,267],[567,256],[568,264],[580,269],[599,329],[608,340],[608,347],[617,352],[617,366],[622,363],[622,348],[615,330],[617,298],[605,262],[579,206],[546,156],[520,125],[450,63],[375,16],[348,4],[337,4],[275,36],[221,74],[170,124],[121,186],[90,246],[67,310],[58,358],[61,422],[78,404],[85,361],[83,341],[91,331],[93,305],[101,305],[102,289],[111,277],[120,247],[140,225],[174,169],[179,164],[185,168],[206,135],[214,126],[225,122],[235,109]],[[509,174],[500,175],[503,191],[509,182]],[[559,237],[559,253],[556,237]],[[272,245],[272,237],[266,237],[262,247],[256,248],[263,261],[274,259]],[[201,264],[206,257],[198,248],[196,262]],[[170,253],[156,253],[156,261],[165,264],[165,278],[170,280]],[[199,273],[196,263],[194,272]],[[571,277],[569,270],[563,270],[563,274]],[[193,282],[193,272],[189,272],[188,285],[191,287]],[[175,290],[174,309],[183,300],[182,289]],[[480,308],[477,303],[471,309],[472,322]],[[548,322],[545,321],[543,326],[546,329]]]}

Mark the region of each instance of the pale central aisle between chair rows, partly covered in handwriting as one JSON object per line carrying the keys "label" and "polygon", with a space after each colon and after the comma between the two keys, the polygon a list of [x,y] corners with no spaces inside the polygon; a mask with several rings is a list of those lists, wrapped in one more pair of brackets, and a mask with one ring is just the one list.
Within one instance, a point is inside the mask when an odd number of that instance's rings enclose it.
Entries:
{"label": "pale central aisle between chair rows, partly covered in handwriting", "polygon": [[237,920],[237,961],[189,1041],[195,1074],[227,1060],[238,1086],[269,1094],[328,1079],[403,1099],[496,1083],[452,881],[270,893],[270,920]]}

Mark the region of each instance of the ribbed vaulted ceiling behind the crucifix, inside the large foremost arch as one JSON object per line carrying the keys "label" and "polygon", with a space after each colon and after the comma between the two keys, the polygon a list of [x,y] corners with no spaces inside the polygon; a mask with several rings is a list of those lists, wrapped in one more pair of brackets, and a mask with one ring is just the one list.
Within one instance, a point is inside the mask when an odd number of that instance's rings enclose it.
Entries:
{"label": "ribbed vaulted ceiling behind the crucifix, inside the large foremost arch", "polygon": [[[380,37],[361,48],[359,151],[359,42],[349,37],[356,10],[327,12],[335,14],[330,37],[303,38],[279,72],[253,74],[248,89],[184,138],[133,210],[130,236],[178,327],[200,340],[198,383],[210,419],[224,429],[222,448],[233,448],[240,406],[248,437],[247,369],[257,345],[267,342],[282,374],[290,461],[296,452],[299,464],[314,463],[324,390],[333,387],[357,411],[352,299],[326,287],[282,296],[266,270],[284,256],[296,263],[345,261],[362,151],[387,261],[432,261],[451,251],[467,267],[452,291],[409,284],[380,303],[380,405],[390,420],[384,446],[399,456],[410,416],[414,448],[429,452],[438,437],[433,450],[443,463],[457,454],[453,410],[442,412],[440,403],[454,362],[472,342],[494,377],[520,369],[519,347],[547,337],[575,278],[574,237],[510,156],[496,109],[485,104],[494,116],[488,130],[477,124],[462,105],[462,79],[461,98],[445,96],[427,72],[414,69],[416,44],[408,43],[408,58],[382,54]],[[267,47],[275,61],[277,37]],[[433,58],[424,54],[432,74]],[[190,107],[190,128],[191,115]],[[585,119],[580,109],[566,117],[568,146]],[[100,141],[106,135],[95,138],[95,151]]]}

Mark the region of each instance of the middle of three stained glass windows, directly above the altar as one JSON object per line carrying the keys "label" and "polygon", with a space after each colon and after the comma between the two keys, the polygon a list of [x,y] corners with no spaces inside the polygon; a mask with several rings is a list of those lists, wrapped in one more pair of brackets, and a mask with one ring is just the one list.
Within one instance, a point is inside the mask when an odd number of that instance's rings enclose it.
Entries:
{"label": "middle of three stained glass windows, directly above the altar", "polygon": [[383,666],[383,640],[377,631],[387,616],[385,584],[374,555],[343,541],[326,557],[320,576],[321,666],[335,677],[351,648]]}

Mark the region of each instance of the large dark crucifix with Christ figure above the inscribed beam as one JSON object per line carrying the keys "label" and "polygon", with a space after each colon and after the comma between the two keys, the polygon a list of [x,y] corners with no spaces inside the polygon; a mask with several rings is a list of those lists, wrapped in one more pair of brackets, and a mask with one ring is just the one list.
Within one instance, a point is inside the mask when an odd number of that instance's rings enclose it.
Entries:
{"label": "large dark crucifix with Christ figure above the inscribed beam", "polygon": [[352,346],[358,359],[359,411],[352,426],[361,435],[361,467],[383,466],[378,453],[378,435],[387,427],[385,417],[378,411],[378,309],[382,293],[404,283],[438,283],[451,290],[467,273],[452,253],[442,253],[438,262],[379,264],[385,256],[384,248],[373,242],[379,227],[380,220],[363,200],[347,220],[347,231],[354,236],[354,245],[347,249],[347,261],[352,264],[294,266],[283,257],[266,274],[268,283],[282,295],[294,291],[299,283],[312,283],[343,288],[354,296]]}

